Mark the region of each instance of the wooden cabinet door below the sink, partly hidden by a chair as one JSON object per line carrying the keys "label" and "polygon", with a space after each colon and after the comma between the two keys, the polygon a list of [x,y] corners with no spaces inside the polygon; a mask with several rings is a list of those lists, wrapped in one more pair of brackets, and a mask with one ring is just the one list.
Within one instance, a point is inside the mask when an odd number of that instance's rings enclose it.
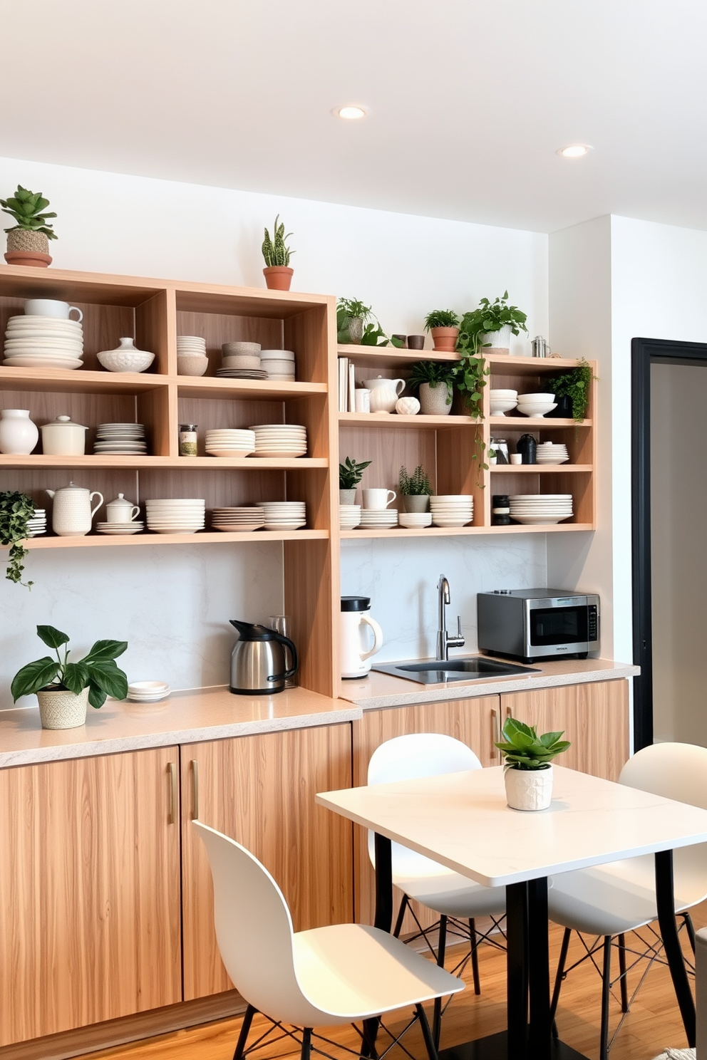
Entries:
{"label": "wooden cabinet door below the sink, partly hidden by a chair", "polygon": [[[483,695],[478,699],[449,700],[445,703],[425,703],[413,707],[391,707],[386,710],[367,710],[359,722],[353,723],[354,734],[354,785],[366,783],[368,763],[379,744],[407,732],[443,732],[461,740],[478,756],[482,765],[497,765],[498,753],[494,747],[498,730],[499,697]],[[354,826],[354,856],[356,921],[373,923],[375,912],[375,880],[368,856],[368,831]],[[401,891],[394,888],[394,907]],[[423,926],[437,919],[429,911],[412,902],[416,916]],[[414,931],[416,924],[408,914],[403,922],[403,933]]]}

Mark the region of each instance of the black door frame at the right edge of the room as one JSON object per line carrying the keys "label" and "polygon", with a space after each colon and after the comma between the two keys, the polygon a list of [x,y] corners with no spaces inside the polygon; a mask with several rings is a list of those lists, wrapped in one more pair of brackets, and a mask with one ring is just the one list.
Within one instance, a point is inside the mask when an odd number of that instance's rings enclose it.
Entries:
{"label": "black door frame at the right edge of the room", "polygon": [[707,365],[707,342],[631,340],[631,477],[634,664],[634,750],[653,743],[653,620],[651,614],[651,364]]}

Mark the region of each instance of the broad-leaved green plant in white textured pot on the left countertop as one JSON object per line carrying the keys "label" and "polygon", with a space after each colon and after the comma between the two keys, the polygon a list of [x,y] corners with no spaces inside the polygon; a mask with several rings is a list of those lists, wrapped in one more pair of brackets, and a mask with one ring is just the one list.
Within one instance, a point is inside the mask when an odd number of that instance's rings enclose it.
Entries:
{"label": "broad-leaved green plant in white textured pot on the left countertop", "polygon": [[126,640],[96,640],[88,655],[69,662],[68,647],[59,654],[59,648],[69,643],[66,633],[38,625],[37,636],[56,652],[56,658],[45,655],[28,662],[13,677],[11,691],[15,703],[20,695],[36,694],[42,728],[76,728],[86,721],[87,703],[98,710],[106,695],[125,699],[127,677],[116,659],[127,648]]}

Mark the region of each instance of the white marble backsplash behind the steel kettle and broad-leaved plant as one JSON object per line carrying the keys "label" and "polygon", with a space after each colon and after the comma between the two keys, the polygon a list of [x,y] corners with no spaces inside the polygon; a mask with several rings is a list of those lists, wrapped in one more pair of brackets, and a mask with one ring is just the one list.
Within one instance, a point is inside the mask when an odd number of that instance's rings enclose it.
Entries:
{"label": "white marble backsplash behind the steel kettle and broad-leaved plant", "polygon": [[279,542],[37,550],[24,573],[34,581],[30,590],[0,569],[1,710],[13,706],[17,670],[50,653],[37,625],[67,633],[81,654],[94,640],[127,640],[118,661],[128,679],[166,681],[176,690],[228,683],[236,637],[230,618],[257,622],[282,613]]}

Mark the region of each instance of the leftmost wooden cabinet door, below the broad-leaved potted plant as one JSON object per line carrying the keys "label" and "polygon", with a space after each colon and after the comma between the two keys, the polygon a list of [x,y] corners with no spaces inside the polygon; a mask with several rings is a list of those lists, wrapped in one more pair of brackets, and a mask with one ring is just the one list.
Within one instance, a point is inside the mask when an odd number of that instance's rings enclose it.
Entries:
{"label": "leftmost wooden cabinet door, below the broad-leaved potted plant", "polygon": [[0,1045],[181,1001],[177,762],[0,771]]}

